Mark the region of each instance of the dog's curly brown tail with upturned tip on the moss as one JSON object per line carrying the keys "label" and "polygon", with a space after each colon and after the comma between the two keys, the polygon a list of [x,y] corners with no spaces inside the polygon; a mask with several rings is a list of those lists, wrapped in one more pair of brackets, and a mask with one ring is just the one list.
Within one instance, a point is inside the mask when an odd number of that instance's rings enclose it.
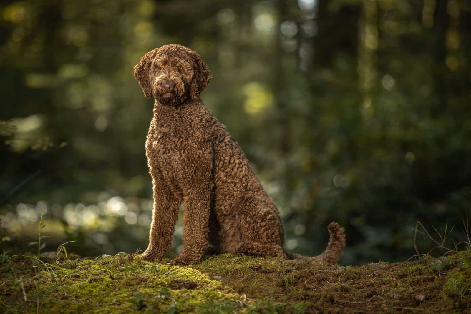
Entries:
{"label": "dog's curly brown tail with upturned tip on the moss", "polygon": [[327,229],[329,230],[330,239],[324,253],[315,257],[307,257],[286,251],[287,258],[306,262],[335,264],[341,257],[343,248],[345,247],[345,232],[343,228],[335,222],[331,222]]}

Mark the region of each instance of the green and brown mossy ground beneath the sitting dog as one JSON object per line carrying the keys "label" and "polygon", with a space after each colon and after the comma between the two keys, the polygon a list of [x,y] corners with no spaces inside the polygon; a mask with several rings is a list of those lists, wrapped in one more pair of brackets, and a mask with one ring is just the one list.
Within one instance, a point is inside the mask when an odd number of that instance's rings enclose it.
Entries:
{"label": "green and brown mossy ground beneath the sitting dog", "polygon": [[470,260],[462,251],[356,267],[219,255],[179,267],[122,253],[69,256],[38,274],[34,260],[10,258],[0,313],[471,313]]}

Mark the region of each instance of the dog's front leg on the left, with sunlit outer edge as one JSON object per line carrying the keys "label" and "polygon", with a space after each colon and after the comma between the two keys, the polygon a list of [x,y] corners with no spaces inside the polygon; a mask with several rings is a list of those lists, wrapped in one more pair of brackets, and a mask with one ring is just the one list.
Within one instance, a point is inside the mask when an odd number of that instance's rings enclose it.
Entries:
{"label": "dog's front leg on the left, with sunlit outer edge", "polygon": [[154,178],[154,209],[149,233],[149,246],[142,254],[142,259],[155,261],[161,259],[170,249],[175,224],[178,220],[180,201],[164,183],[159,173]]}

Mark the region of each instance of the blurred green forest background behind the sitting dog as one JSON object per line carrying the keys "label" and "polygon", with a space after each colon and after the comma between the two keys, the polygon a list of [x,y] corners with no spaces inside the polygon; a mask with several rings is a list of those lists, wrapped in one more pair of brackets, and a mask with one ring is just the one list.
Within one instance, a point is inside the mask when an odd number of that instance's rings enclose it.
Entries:
{"label": "blurred green forest background behind the sitting dog", "polygon": [[289,250],[320,253],[332,220],[344,264],[415,255],[417,220],[462,241],[470,17],[459,0],[2,1],[0,245],[28,250],[46,209],[45,251],[146,249],[153,100],[133,67],[169,43],[209,65],[203,101],[279,206]]}

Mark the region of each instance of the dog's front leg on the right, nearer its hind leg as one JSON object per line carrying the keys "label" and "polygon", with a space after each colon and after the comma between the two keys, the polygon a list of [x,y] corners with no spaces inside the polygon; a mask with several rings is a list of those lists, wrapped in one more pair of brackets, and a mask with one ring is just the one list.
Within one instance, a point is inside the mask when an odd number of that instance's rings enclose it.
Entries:
{"label": "dog's front leg on the right, nearer its hind leg", "polygon": [[183,185],[183,250],[172,265],[201,262],[209,248],[209,215],[212,196],[212,154],[196,159],[196,169],[187,171]]}

